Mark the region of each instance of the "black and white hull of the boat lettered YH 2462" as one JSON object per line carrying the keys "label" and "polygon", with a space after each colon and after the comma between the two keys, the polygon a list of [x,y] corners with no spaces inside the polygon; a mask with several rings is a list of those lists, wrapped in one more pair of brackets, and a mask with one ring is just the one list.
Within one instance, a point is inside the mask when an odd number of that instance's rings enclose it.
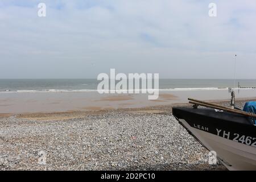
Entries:
{"label": "black and white hull of the boat lettered YH 2462", "polygon": [[[253,133],[256,132],[255,126],[251,127],[246,123],[227,123],[228,120],[221,119],[221,115],[226,113],[208,118],[200,112],[193,113],[193,109],[191,110],[183,110],[185,117],[177,117],[182,114],[177,111],[174,111],[174,115],[176,114],[175,117],[180,124],[203,146],[209,151],[216,152],[217,158],[226,168],[256,170],[256,137]],[[233,116],[236,117],[240,115]]]}

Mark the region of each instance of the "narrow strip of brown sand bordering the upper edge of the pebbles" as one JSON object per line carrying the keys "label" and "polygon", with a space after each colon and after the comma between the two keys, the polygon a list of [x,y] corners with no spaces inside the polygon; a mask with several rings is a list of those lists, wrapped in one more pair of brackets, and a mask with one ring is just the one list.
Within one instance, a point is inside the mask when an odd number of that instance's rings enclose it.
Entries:
{"label": "narrow strip of brown sand bordering the upper edge of the pebbles", "polygon": [[[226,105],[229,106],[229,100],[208,100],[214,104]],[[237,99],[236,103],[238,107],[243,107],[247,101],[256,101],[256,97],[253,98],[241,98]],[[241,104],[242,103],[242,104]],[[34,121],[60,121],[65,119],[75,119],[83,118],[88,115],[98,115],[102,113],[109,113],[110,111],[116,111],[117,113],[148,113],[148,114],[170,114],[172,107],[174,106],[191,106],[188,103],[179,103],[171,105],[156,105],[156,106],[145,106],[138,108],[123,108],[123,109],[114,109],[113,107],[86,107],[86,110],[70,110],[62,112],[38,112],[38,113],[16,113],[16,114],[0,114],[0,118],[22,118],[22,119],[32,119]]]}

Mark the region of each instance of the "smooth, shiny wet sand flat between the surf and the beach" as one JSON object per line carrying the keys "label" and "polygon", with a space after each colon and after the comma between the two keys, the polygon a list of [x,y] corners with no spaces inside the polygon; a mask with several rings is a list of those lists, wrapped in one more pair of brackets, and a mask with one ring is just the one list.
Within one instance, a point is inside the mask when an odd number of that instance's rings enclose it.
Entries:
{"label": "smooth, shiny wet sand flat between the surf and the beach", "polygon": [[[158,100],[148,100],[147,96],[147,94],[98,94],[97,92],[0,93],[0,114],[135,109],[187,103],[188,97],[199,100],[230,99],[228,90],[160,90]],[[237,99],[255,96],[256,89],[236,92]]]}

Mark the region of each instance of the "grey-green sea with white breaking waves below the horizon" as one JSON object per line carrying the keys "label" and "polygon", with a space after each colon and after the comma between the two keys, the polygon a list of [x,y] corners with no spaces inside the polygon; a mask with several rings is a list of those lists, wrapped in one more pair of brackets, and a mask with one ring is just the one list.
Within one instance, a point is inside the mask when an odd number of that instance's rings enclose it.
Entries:
{"label": "grey-green sea with white breaking waves below the horizon", "polygon": [[[236,80],[242,87],[256,87],[256,80]],[[95,79],[0,79],[0,92],[83,92],[97,89]],[[159,89],[222,89],[234,80],[160,79]]]}

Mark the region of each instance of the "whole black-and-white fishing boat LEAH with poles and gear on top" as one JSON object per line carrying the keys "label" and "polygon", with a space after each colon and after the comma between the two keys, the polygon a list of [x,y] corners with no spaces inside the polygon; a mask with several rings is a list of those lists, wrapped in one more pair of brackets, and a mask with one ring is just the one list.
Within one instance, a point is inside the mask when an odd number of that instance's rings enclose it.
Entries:
{"label": "whole black-and-white fishing boat LEAH with poles and gear on top", "polygon": [[216,152],[217,159],[229,170],[256,170],[256,115],[245,111],[250,103],[238,110],[189,100],[193,106],[172,108],[188,133]]}

